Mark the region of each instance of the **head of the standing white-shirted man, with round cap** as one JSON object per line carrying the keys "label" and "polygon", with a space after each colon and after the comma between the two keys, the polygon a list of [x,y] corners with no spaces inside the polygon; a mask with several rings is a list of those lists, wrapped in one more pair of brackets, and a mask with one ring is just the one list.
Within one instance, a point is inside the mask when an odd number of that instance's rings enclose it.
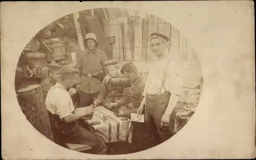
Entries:
{"label": "head of the standing white-shirted man, with round cap", "polygon": [[167,48],[169,38],[161,33],[152,33],[150,46],[156,56],[161,56]]}

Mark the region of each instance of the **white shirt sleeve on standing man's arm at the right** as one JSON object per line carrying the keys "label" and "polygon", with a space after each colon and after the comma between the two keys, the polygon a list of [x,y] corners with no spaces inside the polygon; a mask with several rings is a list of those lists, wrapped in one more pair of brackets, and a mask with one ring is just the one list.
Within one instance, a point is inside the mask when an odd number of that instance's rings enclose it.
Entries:
{"label": "white shirt sleeve on standing man's arm at the right", "polygon": [[172,63],[168,69],[168,79],[166,90],[172,94],[181,95],[182,92],[182,76],[181,68],[178,63]]}

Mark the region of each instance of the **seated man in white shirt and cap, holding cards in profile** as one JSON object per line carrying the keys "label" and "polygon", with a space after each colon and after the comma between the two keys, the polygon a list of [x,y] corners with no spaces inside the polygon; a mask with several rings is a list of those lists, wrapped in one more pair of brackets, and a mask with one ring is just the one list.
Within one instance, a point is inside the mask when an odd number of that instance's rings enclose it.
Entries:
{"label": "seated man in white shirt and cap, holding cards in profile", "polygon": [[[65,143],[86,144],[92,146],[87,153],[104,154],[106,146],[101,137],[84,129],[78,120],[88,120],[93,114],[94,106],[75,109],[67,88],[74,85],[76,71],[73,68],[62,68],[59,81],[50,88],[46,97],[46,107],[51,120],[55,120],[57,129]],[[90,118],[89,118],[90,119]]]}

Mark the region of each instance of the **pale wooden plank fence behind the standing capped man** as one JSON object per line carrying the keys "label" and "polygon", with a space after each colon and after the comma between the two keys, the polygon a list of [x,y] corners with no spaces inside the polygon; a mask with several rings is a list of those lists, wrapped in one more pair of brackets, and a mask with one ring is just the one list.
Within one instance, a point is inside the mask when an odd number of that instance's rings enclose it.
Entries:
{"label": "pale wooden plank fence behind the standing capped man", "polygon": [[156,60],[150,48],[151,33],[166,35],[170,39],[170,56],[182,64],[183,87],[194,88],[200,84],[202,73],[195,49],[188,44],[178,29],[161,18],[117,17],[103,20],[103,30],[105,36],[115,37],[111,48],[113,58],[120,61],[120,68],[126,62],[134,62],[143,77],[147,76],[148,64]]}

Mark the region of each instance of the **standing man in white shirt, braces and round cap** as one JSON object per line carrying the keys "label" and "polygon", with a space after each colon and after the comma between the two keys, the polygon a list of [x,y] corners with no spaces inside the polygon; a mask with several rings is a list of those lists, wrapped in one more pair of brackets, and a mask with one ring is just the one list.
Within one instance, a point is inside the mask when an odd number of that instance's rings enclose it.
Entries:
{"label": "standing man in white shirt, braces and round cap", "polygon": [[166,51],[168,41],[169,38],[163,34],[151,34],[151,49],[157,60],[149,69],[143,100],[137,110],[138,114],[142,114],[145,105],[145,122],[148,132],[157,140],[155,145],[174,135],[173,110],[181,93],[180,67]]}

